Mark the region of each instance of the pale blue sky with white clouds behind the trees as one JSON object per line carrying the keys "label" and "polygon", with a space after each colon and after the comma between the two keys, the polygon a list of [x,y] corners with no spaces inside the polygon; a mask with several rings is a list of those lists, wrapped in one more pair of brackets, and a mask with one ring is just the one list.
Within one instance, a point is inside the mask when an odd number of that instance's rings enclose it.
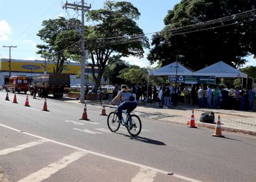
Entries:
{"label": "pale blue sky with white clouds behind the trees", "polygon": [[[73,0],[75,1],[75,0]],[[73,2],[69,1],[69,2]],[[128,0],[137,7],[141,13],[141,18],[137,21],[139,27],[145,33],[162,30],[164,27],[163,18],[167,11],[173,9],[179,0]],[[23,1],[4,1],[0,0],[0,55],[9,58],[9,48],[2,46],[17,46],[11,51],[13,59],[40,59],[36,55],[36,44],[42,43],[36,34],[42,28],[42,22],[46,19],[54,19],[57,16],[72,18],[74,11],[69,10],[68,14],[62,9],[64,0],[23,0]],[[86,0],[85,0],[86,2]],[[92,9],[100,9],[104,1],[87,0],[92,3]],[[80,15],[75,17],[81,19]],[[90,23],[87,23],[90,24]],[[146,50],[146,53],[148,50]],[[0,56],[0,57],[1,57]],[[1,57],[2,58],[2,57]],[[137,64],[141,67],[149,65],[146,54],[144,59],[136,57],[126,57],[130,64]],[[246,65],[256,65],[253,56],[247,57],[249,62]]]}

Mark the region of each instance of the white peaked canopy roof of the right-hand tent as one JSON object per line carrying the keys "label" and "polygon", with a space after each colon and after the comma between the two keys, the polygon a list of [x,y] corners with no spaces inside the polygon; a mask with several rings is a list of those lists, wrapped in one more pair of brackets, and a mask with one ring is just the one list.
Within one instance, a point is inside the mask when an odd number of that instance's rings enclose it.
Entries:
{"label": "white peaked canopy roof of the right-hand tent", "polygon": [[209,67],[200,69],[193,73],[196,76],[215,76],[215,77],[244,77],[247,78],[247,75],[241,71],[238,71],[236,68],[220,61],[218,63],[212,64]]}

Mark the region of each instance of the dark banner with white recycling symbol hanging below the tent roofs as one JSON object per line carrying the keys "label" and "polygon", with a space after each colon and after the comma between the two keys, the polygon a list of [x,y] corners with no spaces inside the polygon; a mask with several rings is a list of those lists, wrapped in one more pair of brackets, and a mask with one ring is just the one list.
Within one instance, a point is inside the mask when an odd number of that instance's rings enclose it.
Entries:
{"label": "dark banner with white recycling symbol hanging below the tent roofs", "polygon": [[[170,82],[175,82],[176,76],[169,76]],[[177,75],[177,83],[184,84],[215,84],[215,76],[181,76]]]}

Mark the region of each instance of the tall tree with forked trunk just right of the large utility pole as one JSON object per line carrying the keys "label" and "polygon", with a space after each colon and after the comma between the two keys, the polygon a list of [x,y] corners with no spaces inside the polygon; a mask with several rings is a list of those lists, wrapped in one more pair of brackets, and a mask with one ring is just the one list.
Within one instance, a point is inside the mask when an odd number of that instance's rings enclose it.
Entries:
{"label": "tall tree with forked trunk just right of the large utility pole", "polygon": [[[139,16],[136,7],[123,1],[106,1],[104,9],[92,10],[87,14],[87,20],[96,23],[96,26],[87,27],[85,31],[96,89],[100,86],[106,63],[113,56],[143,57],[143,48],[149,47],[146,36],[131,41],[134,35],[143,35],[143,30],[135,22]],[[95,67],[98,67],[98,74],[94,71]]]}

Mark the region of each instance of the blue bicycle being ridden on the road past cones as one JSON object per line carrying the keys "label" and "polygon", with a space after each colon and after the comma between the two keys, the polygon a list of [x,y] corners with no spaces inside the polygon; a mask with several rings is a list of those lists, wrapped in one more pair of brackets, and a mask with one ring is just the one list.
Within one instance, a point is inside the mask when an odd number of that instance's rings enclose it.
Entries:
{"label": "blue bicycle being ridden on the road past cones", "polygon": [[122,110],[122,113],[126,115],[126,118],[124,119],[122,117],[122,122],[118,122],[118,115],[117,115],[117,107],[115,108],[115,111],[112,113],[109,113],[108,115],[108,127],[109,130],[112,132],[115,132],[119,129],[120,125],[123,125],[126,127],[127,131],[132,137],[136,137],[141,133],[141,119],[139,119],[138,115],[135,114],[129,114],[127,113],[127,110]]}

